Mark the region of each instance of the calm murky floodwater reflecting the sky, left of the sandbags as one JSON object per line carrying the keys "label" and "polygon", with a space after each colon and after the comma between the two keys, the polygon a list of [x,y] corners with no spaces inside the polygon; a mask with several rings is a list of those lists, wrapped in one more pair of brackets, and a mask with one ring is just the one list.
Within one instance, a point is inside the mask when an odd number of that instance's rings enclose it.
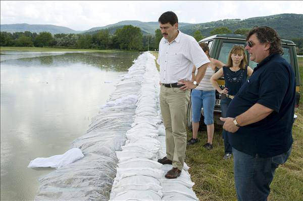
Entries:
{"label": "calm murky floodwater reflecting the sky, left of the sandbags", "polygon": [[138,55],[2,52],[1,200],[34,199],[38,178],[54,169],[29,162],[69,150]]}

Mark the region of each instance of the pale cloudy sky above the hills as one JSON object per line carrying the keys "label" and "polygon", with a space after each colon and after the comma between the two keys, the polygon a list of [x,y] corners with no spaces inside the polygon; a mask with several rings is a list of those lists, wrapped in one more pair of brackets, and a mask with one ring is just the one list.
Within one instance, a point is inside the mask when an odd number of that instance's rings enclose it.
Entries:
{"label": "pale cloudy sky above the hills", "polygon": [[51,24],[77,31],[123,20],[157,22],[173,11],[179,22],[205,23],[282,13],[303,14],[303,1],[0,1],[1,24]]}

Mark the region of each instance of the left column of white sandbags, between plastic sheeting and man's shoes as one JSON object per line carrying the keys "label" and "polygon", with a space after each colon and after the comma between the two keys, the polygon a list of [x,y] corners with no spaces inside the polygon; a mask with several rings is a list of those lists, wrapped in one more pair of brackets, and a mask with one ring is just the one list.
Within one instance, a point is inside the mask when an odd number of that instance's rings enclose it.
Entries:
{"label": "left column of white sandbags, between plastic sheeting and man's shoes", "polygon": [[146,72],[135,111],[132,128],[126,133],[127,141],[119,160],[110,200],[161,200],[163,170],[157,162],[161,143],[158,141],[159,73],[155,57],[148,54]]}

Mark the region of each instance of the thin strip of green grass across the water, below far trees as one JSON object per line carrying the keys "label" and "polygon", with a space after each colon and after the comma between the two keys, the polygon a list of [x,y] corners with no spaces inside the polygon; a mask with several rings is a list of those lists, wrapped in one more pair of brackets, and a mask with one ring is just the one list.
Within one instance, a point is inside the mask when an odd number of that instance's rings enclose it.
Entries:
{"label": "thin strip of green grass across the water, below far trees", "polygon": [[62,51],[86,51],[86,52],[121,52],[119,49],[99,50],[99,49],[68,49],[51,47],[0,47],[0,51],[34,51],[34,52],[62,52]]}

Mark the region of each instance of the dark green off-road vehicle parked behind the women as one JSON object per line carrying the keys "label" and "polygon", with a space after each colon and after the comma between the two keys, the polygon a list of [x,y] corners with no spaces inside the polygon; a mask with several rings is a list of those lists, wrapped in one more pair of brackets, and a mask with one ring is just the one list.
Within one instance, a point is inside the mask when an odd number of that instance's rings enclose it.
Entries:
{"label": "dark green off-road vehicle parked behind the women", "polygon": [[[234,45],[243,45],[245,46],[246,43],[246,36],[243,35],[235,35],[235,34],[218,34],[213,35],[210,37],[207,37],[205,39],[202,39],[199,41],[199,43],[207,43],[210,48],[210,56],[212,58],[216,58],[223,63],[227,62],[228,54],[231,50],[231,48]],[[299,106],[299,99],[300,99],[300,93],[299,93],[299,85],[300,85],[300,76],[299,76],[299,68],[298,68],[298,61],[295,51],[295,44],[290,40],[282,40],[282,48],[283,48],[283,55],[282,57],[285,58],[290,65],[292,66],[292,69],[295,73],[295,83],[296,83],[296,94],[295,94],[295,107],[294,111],[297,111],[297,108]],[[249,60],[249,54],[246,51],[247,55],[247,61],[248,66],[250,66],[251,69],[254,69],[257,66],[257,63],[254,61]],[[224,78],[221,78],[218,80],[218,84],[220,87],[224,87],[225,82]],[[274,83],[273,83],[274,84]],[[223,124],[223,122],[219,119],[221,116],[221,107],[220,107],[220,101],[221,101],[221,94],[219,94],[216,91],[216,105],[214,110],[214,122],[216,124]],[[200,124],[204,124],[204,115],[203,115],[203,108],[201,110],[201,119]],[[296,115],[294,115],[294,118],[296,118]],[[191,125],[191,102],[188,105],[188,112],[187,112],[187,125],[189,128],[192,127]],[[200,126],[203,128],[203,126]]]}

